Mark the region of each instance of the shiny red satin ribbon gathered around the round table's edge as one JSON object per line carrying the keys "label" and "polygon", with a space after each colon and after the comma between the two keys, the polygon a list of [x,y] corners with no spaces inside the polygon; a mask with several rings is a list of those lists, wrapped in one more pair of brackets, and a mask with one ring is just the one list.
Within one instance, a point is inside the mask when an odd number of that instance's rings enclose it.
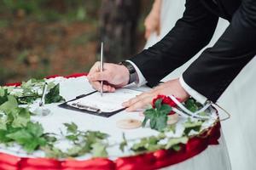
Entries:
{"label": "shiny red satin ribbon gathered around the round table's edge", "polygon": [[[81,77],[86,76],[85,73],[78,73],[67,76]],[[52,76],[59,77],[59,76]],[[52,78],[47,77],[47,78]],[[20,83],[8,84],[11,86],[19,86]],[[11,156],[9,154],[0,153],[0,169],[4,170],[150,170],[160,167],[171,166],[173,164],[185,161],[193,156],[198,155],[201,151],[206,150],[210,144],[218,144],[220,137],[220,123],[218,122],[209,132],[201,135],[201,137],[193,137],[189,139],[187,144],[181,145],[181,150],[157,150],[147,154],[138,156],[120,157],[115,161],[107,158],[94,158],[86,161],[66,160],[58,161],[48,158],[26,158]]]}

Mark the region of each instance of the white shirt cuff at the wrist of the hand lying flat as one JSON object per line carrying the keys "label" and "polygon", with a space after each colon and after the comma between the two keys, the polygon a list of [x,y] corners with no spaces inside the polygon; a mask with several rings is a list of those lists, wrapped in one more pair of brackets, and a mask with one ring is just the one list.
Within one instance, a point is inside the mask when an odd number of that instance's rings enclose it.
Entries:
{"label": "white shirt cuff at the wrist of the hand lying flat", "polygon": [[180,82],[181,86],[184,88],[184,90],[192,98],[194,98],[196,101],[198,101],[202,105],[204,105],[206,103],[207,98],[205,96],[203,96],[202,94],[199,94],[198,92],[196,92],[193,88],[190,88],[189,85],[186,82],[184,82],[183,76],[179,77],[179,82]]}

